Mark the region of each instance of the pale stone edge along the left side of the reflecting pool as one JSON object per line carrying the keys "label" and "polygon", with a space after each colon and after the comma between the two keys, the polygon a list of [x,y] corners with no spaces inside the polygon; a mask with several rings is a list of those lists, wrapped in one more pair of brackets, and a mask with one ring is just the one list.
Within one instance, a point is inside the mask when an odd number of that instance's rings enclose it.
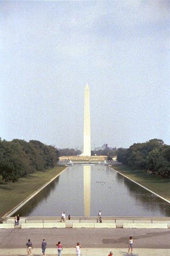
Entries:
{"label": "pale stone edge along the left side of the reflecting pool", "polygon": [[[65,171],[69,166],[66,166],[63,171]],[[30,199],[32,199],[34,196],[36,196],[41,190],[43,190],[47,185],[49,185],[52,181],[54,181],[63,171],[61,171],[59,174],[57,174],[55,177],[53,177],[50,181],[46,182],[43,186],[41,186],[39,189],[37,189],[33,194],[31,194],[29,197],[25,198],[24,201],[21,201],[17,206],[15,206],[12,210],[5,213],[2,218],[9,218],[12,214],[14,214],[16,211],[18,211],[22,206],[24,206]]]}

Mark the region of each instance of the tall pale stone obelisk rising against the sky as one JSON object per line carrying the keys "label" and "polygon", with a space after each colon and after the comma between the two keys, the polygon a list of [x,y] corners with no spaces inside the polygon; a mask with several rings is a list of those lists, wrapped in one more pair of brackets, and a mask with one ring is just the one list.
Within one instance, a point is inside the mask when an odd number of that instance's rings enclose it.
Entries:
{"label": "tall pale stone obelisk rising against the sky", "polygon": [[90,94],[89,85],[85,86],[85,110],[84,110],[84,147],[83,156],[91,156],[90,139]]}

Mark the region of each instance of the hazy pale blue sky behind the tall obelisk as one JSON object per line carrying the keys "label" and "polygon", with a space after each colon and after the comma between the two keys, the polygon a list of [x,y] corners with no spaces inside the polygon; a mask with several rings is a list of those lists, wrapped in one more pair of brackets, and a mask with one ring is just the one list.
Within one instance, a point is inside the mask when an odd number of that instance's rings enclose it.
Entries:
{"label": "hazy pale blue sky behind the tall obelisk", "polygon": [[170,144],[168,1],[0,1],[0,136]]}

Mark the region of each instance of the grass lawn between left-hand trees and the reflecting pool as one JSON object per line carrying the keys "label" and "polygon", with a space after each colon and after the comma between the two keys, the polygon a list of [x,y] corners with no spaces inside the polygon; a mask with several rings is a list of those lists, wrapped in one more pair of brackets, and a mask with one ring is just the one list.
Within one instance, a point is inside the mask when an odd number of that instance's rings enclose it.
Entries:
{"label": "grass lawn between left-hand trees and the reflecting pool", "polygon": [[0,184],[0,216],[13,209],[64,169],[65,166],[56,166],[45,172],[37,171],[22,177],[15,183]]}

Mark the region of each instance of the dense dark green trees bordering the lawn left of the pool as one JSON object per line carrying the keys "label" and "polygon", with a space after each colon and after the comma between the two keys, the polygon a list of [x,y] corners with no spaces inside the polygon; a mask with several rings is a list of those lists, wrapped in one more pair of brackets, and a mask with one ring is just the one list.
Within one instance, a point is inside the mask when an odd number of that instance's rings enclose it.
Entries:
{"label": "dense dark green trees bordering the lawn left of the pool", "polygon": [[0,139],[0,183],[17,181],[35,171],[53,168],[59,160],[59,151],[40,141]]}

